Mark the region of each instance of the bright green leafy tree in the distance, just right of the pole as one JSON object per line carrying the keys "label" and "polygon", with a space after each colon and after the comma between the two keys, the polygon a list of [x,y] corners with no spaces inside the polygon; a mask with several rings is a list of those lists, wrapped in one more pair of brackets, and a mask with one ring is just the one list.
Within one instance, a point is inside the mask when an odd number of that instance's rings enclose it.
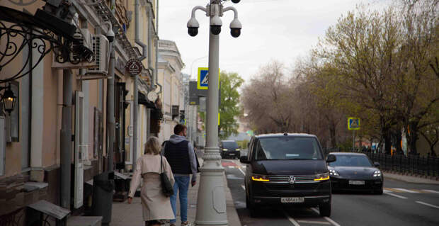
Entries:
{"label": "bright green leafy tree in the distance, just right of the pole", "polygon": [[239,108],[239,87],[244,83],[244,79],[236,73],[221,72],[221,103],[220,103],[220,139],[227,139],[232,134],[238,133],[238,123],[236,118],[241,115]]}

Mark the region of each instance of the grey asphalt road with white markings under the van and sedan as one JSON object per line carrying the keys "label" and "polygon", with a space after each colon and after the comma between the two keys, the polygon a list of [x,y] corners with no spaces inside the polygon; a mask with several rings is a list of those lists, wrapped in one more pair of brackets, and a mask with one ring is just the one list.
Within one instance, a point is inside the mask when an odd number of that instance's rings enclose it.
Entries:
{"label": "grey asphalt road with white markings under the van and sedan", "polygon": [[245,166],[237,159],[223,159],[227,182],[241,225],[439,225],[439,185],[384,179],[384,194],[335,193],[331,217],[320,217],[318,208],[263,210],[251,218],[246,209]]}

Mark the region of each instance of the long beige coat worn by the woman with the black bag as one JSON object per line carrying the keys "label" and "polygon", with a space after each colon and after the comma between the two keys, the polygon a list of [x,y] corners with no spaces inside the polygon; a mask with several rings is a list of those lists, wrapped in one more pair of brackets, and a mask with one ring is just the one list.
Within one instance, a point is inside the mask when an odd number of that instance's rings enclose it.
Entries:
{"label": "long beige coat worn by the woman with the black bag", "polygon": [[[169,166],[165,157],[163,157],[163,166],[169,181],[173,185],[175,180],[173,179],[171,166]],[[164,196],[161,190],[160,172],[159,154],[144,154],[137,159],[136,170],[132,175],[128,196],[134,197],[136,189],[142,181],[140,197],[142,199],[144,221],[175,219],[169,197]]]}

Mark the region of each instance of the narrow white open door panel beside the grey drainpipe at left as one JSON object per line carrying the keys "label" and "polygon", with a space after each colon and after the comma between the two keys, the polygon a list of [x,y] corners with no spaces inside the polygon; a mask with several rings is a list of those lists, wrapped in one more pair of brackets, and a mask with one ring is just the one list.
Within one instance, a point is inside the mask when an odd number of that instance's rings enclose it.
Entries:
{"label": "narrow white open door panel beside the grey drainpipe at left", "polygon": [[75,123],[74,123],[74,208],[80,208],[84,200],[84,132],[83,107],[84,94],[75,92]]}

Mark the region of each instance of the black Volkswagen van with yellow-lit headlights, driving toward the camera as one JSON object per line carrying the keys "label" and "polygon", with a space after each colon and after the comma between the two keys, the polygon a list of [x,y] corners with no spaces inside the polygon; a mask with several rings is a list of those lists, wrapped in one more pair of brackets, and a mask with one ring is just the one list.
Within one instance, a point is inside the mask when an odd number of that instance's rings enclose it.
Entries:
{"label": "black Volkswagen van with yellow-lit headlights, driving toward the camera", "polygon": [[264,207],[319,206],[331,215],[331,181],[315,135],[270,134],[252,137],[246,165],[246,205],[252,217]]}

